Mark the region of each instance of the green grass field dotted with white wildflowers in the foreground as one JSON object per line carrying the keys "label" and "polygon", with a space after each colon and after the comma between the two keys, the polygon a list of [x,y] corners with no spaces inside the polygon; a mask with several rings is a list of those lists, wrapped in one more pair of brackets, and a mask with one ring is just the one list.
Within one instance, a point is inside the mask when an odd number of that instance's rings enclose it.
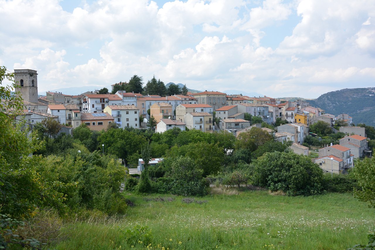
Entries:
{"label": "green grass field dotted with white wildflowers in the foreground", "polygon": [[[165,201],[147,196],[154,199],[147,201],[124,195],[135,204],[126,216],[77,223],[52,248],[346,249],[367,243],[367,234],[375,230],[375,209],[351,194],[288,197],[242,191],[194,198],[199,203],[184,203],[180,196],[160,196]],[[151,245],[127,244],[124,232],[136,224],[151,230]]]}

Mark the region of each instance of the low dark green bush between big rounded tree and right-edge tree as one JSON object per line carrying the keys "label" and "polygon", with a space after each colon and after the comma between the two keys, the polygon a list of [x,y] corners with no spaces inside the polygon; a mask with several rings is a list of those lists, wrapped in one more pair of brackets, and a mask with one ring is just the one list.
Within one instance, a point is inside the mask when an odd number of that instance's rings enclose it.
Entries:
{"label": "low dark green bush between big rounded tree and right-edge tree", "polygon": [[323,188],[327,192],[350,193],[357,187],[356,180],[351,175],[323,174]]}

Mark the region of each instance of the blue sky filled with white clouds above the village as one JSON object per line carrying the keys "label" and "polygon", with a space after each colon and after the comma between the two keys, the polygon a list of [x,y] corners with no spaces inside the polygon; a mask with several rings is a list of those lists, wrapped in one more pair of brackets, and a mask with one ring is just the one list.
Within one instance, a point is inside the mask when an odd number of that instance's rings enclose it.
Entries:
{"label": "blue sky filled with white clouds above the village", "polygon": [[[38,92],[144,82],[317,98],[374,87],[374,0],[0,0],[0,65]],[[78,94],[78,93],[77,93]]]}

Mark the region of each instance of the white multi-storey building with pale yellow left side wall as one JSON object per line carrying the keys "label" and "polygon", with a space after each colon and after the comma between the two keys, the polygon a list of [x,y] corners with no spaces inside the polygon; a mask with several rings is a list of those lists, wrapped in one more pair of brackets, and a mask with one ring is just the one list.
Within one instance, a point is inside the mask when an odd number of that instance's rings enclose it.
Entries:
{"label": "white multi-storey building with pale yellow left side wall", "polygon": [[109,113],[119,128],[139,128],[139,109],[134,105],[108,105],[104,113]]}

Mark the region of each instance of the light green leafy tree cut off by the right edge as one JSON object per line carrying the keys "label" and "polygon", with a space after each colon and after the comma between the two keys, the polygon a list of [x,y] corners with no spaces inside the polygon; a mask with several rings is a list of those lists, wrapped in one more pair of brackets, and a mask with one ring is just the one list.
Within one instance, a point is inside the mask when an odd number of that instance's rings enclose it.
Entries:
{"label": "light green leafy tree cut off by the right edge", "polygon": [[354,195],[363,202],[369,202],[369,207],[375,208],[375,157],[357,161],[352,170],[359,189]]}

